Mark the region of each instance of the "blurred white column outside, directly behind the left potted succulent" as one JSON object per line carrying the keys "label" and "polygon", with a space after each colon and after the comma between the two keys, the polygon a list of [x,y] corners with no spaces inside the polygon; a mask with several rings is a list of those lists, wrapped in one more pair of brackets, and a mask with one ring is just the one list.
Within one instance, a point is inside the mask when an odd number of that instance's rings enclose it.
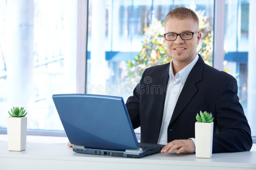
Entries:
{"label": "blurred white column outside, directly behind the left potted succulent", "polygon": [[33,105],[34,1],[8,1],[7,8],[8,108],[24,107],[29,115]]}

